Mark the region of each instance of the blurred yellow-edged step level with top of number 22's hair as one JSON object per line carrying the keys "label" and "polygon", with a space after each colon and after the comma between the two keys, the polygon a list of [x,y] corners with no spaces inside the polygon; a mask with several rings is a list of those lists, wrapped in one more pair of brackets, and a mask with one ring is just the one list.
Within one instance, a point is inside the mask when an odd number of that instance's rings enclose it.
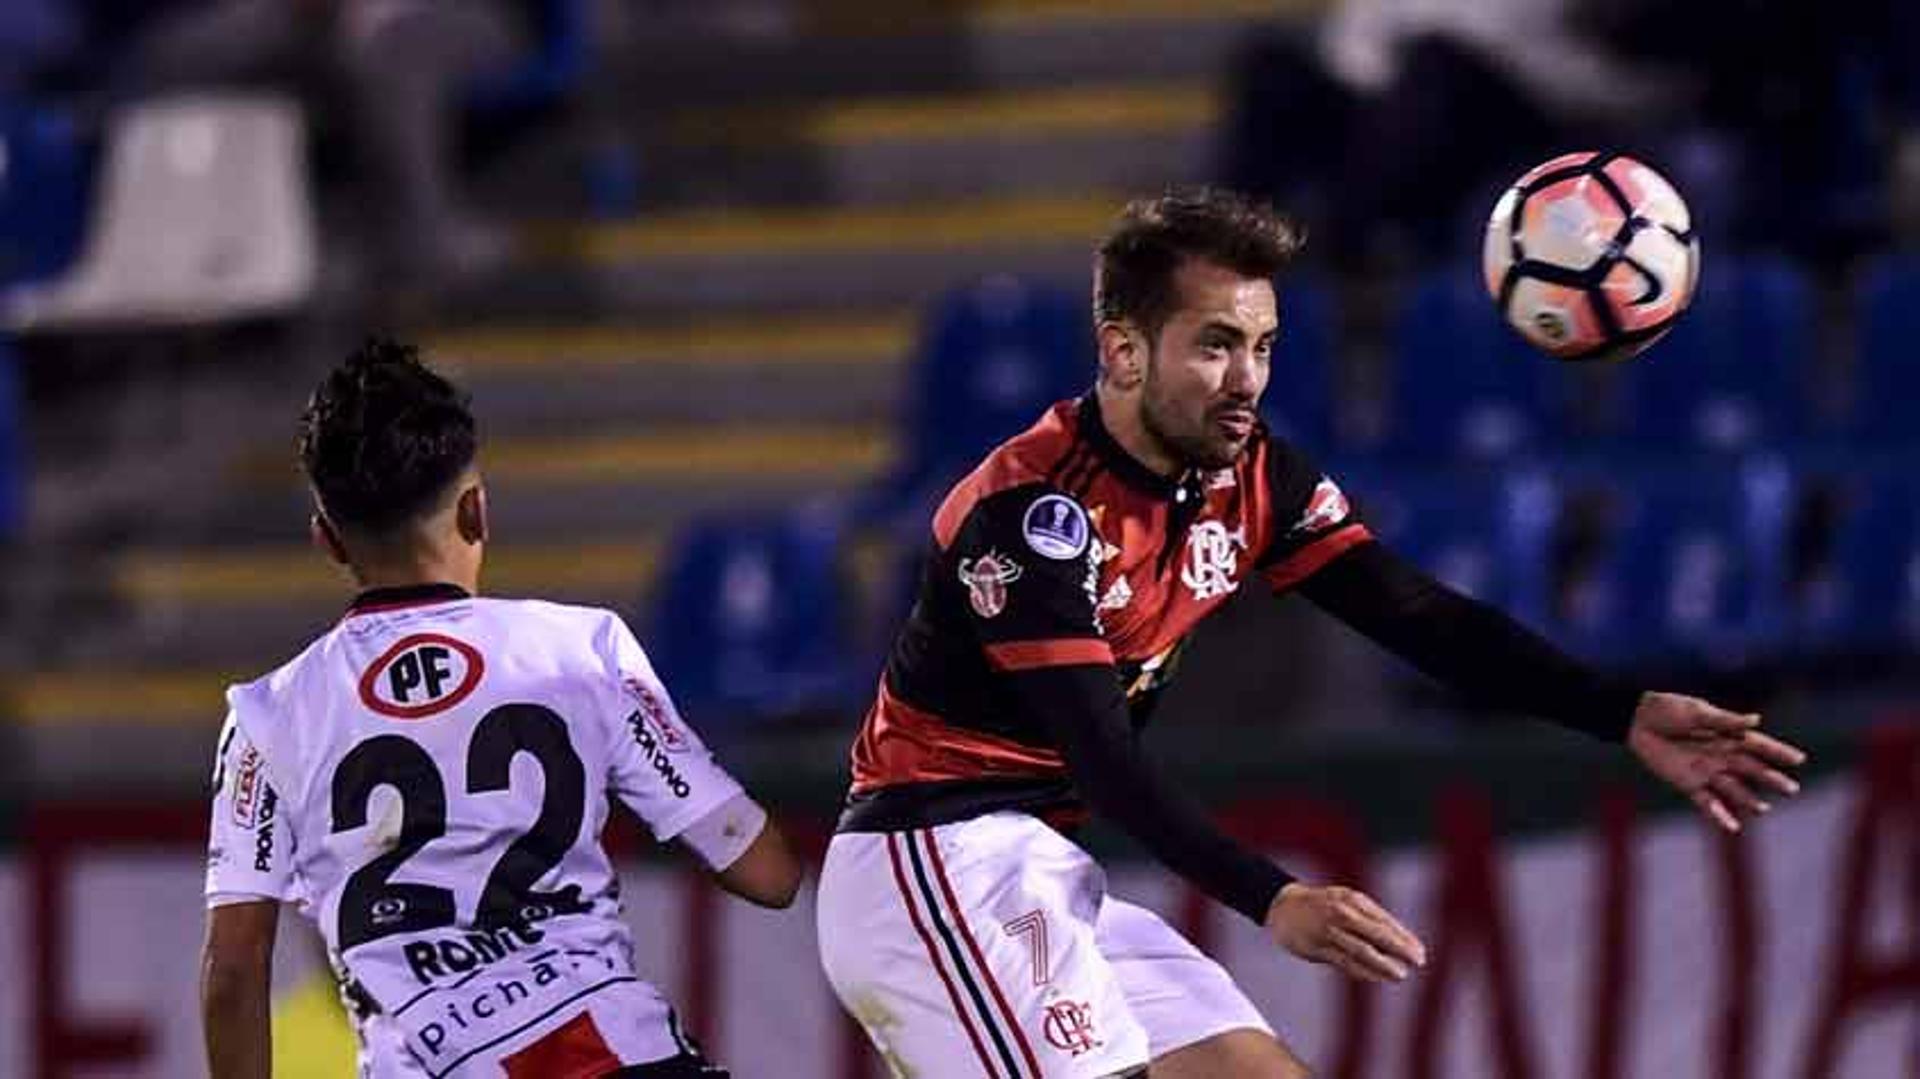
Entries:
{"label": "blurred yellow-edged step level with top of number 22's hair", "polygon": [[484,326],[426,342],[486,430],[872,422],[893,415],[920,315],[741,315],[708,323]]}

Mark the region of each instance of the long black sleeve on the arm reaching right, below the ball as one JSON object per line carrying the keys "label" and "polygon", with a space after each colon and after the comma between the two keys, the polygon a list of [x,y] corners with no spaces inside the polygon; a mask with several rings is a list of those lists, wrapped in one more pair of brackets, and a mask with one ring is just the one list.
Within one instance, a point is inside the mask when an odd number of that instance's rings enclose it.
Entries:
{"label": "long black sleeve on the arm reaching right, below the ball", "polygon": [[1436,582],[1380,543],[1306,578],[1302,595],[1471,701],[1624,741],[1640,689],[1609,678],[1505,612]]}

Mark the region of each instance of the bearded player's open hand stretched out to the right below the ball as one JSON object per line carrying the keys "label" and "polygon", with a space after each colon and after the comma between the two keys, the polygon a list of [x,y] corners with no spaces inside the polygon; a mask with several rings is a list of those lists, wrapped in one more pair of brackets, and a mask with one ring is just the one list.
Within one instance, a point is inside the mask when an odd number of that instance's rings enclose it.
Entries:
{"label": "bearded player's open hand stretched out to the right below the ball", "polygon": [[1761,716],[1716,708],[1699,697],[1647,693],[1634,710],[1626,747],[1728,831],[1772,808],[1766,795],[1795,795],[1782,772],[1807,760],[1799,749],[1761,733]]}

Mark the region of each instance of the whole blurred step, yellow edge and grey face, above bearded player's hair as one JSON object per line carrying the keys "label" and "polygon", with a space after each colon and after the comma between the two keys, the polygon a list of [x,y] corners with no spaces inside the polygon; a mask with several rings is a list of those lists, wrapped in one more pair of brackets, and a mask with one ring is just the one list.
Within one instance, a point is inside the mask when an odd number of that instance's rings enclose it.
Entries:
{"label": "whole blurred step, yellow edge and grey face, above bearded player's hair", "polygon": [[691,109],[647,157],[674,204],[1146,192],[1206,175],[1219,113],[1192,81]]}

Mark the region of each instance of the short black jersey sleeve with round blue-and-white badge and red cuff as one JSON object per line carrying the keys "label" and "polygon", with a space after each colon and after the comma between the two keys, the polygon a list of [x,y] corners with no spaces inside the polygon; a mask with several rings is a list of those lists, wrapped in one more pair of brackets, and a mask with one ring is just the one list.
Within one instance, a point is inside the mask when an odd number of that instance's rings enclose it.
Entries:
{"label": "short black jersey sleeve with round blue-and-white badge and red cuff", "polygon": [[1087,509],[1044,484],[1008,488],[973,507],[952,549],[950,574],[989,666],[1002,672],[1112,664],[1094,618],[1094,534]]}

